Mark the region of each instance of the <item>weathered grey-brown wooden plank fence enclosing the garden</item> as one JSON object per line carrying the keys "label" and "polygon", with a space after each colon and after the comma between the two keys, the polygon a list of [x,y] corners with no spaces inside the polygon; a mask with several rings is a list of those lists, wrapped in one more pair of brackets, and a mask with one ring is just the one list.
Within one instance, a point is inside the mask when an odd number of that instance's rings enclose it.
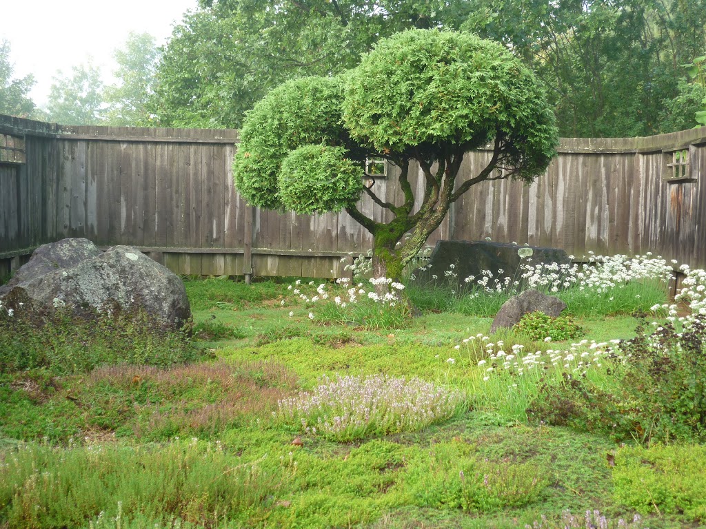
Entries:
{"label": "weathered grey-brown wooden plank fence enclosing the garden", "polygon": [[[371,246],[347,214],[246,205],[234,190],[236,130],[68,127],[0,116],[0,274],[42,243],[134,245],[181,274],[342,274]],[[495,181],[457,202],[439,238],[550,245],[573,255],[648,251],[706,267],[706,128],[561,141],[532,186]],[[489,158],[470,152],[463,174]],[[376,180],[401,202],[395,168]],[[422,181],[413,182],[421,192]],[[359,205],[380,219],[367,197]]]}

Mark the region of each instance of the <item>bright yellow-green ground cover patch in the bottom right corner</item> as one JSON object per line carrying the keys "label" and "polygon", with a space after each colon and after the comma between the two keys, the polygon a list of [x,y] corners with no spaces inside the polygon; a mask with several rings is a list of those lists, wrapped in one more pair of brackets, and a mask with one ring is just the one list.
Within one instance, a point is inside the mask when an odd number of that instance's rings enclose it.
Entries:
{"label": "bright yellow-green ground cover patch in the bottom right corner", "polygon": [[622,504],[641,513],[683,513],[706,521],[705,446],[625,446],[615,465],[614,494]]}

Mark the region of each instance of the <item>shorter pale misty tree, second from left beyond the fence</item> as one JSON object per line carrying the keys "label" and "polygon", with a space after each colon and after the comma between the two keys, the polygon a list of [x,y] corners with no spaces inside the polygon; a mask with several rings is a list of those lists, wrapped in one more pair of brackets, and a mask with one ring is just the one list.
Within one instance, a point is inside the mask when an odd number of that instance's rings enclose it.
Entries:
{"label": "shorter pale misty tree, second from left beyond the fence", "polygon": [[86,64],[72,66],[71,71],[71,77],[61,71],[54,77],[47,102],[49,119],[62,125],[100,123],[104,111],[100,68],[89,60]]}

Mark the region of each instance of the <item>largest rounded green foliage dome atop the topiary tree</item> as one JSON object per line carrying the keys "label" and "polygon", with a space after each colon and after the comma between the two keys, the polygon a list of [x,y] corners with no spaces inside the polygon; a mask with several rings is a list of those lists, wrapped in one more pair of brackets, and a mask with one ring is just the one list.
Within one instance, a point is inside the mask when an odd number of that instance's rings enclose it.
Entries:
{"label": "largest rounded green foliage dome atop the topiary tree", "polygon": [[343,119],[379,152],[507,144],[515,176],[532,181],[554,157],[556,128],[532,71],[500,44],[410,30],[378,42],[345,81]]}

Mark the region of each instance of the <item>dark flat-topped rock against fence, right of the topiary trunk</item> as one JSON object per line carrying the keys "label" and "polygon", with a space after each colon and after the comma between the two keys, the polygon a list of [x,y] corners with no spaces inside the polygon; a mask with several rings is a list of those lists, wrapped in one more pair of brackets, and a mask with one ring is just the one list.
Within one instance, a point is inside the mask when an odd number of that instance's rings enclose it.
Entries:
{"label": "dark flat-topped rock against fence, right of the topiary trunk", "polygon": [[[532,250],[531,257],[520,259],[517,250]],[[529,252],[528,252],[529,253]],[[448,278],[444,272],[451,269],[457,274],[456,280],[461,283],[468,276],[475,276],[481,279],[484,270],[493,273],[493,280],[515,276],[520,262],[528,265],[539,263],[558,263],[558,265],[568,265],[571,260],[564,250],[557,248],[542,248],[539,246],[519,246],[508,243],[493,243],[487,241],[438,241],[428,265],[431,269],[414,271],[415,282],[421,284],[448,284]],[[502,270],[503,272],[499,272]],[[433,279],[436,275],[437,279]],[[519,274],[518,274],[519,275]],[[492,286],[491,284],[489,286]]]}

